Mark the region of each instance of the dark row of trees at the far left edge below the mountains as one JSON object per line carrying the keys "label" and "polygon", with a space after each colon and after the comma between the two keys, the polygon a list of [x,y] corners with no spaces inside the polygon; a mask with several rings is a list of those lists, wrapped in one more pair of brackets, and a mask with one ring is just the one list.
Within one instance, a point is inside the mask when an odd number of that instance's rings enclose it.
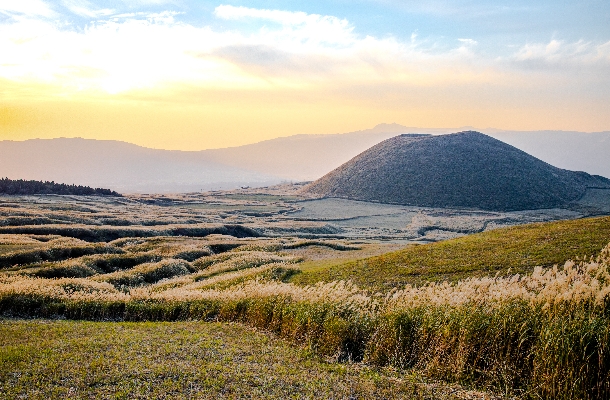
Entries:
{"label": "dark row of trees at the far left edge below the mountains", "polygon": [[63,194],[79,196],[121,196],[110,189],[91,188],[89,186],[66,185],[54,181],[26,181],[0,179],[0,193],[3,194]]}

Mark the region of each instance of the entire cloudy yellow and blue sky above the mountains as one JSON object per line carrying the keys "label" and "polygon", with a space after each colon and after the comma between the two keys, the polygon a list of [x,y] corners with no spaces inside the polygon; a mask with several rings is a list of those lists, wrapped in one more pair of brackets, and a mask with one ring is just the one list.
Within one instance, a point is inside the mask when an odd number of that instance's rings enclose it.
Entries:
{"label": "entire cloudy yellow and blue sky above the mountains", "polygon": [[0,140],[610,130],[607,0],[0,0]]}

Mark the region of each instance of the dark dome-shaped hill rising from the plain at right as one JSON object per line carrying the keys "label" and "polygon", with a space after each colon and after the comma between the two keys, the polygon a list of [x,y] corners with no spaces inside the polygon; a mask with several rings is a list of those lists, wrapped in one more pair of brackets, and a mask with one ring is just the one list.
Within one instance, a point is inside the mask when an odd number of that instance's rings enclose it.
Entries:
{"label": "dark dome-shaped hill rising from the plain at right", "polygon": [[513,211],[576,201],[610,180],[556,168],[479,132],[400,135],[373,146],[303,191],[423,207]]}

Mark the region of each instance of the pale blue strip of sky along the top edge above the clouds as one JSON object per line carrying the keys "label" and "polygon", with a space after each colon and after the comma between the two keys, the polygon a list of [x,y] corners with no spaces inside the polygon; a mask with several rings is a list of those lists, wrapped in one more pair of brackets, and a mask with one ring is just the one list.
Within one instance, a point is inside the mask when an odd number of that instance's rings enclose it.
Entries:
{"label": "pale blue strip of sky along the top edge above the clouds", "polygon": [[[27,2],[28,0],[23,0]],[[11,1],[15,3],[14,1]],[[214,16],[221,5],[257,9],[303,11],[346,19],[360,35],[421,38],[447,46],[458,38],[471,38],[490,50],[528,41],[608,41],[610,2],[584,1],[48,1],[59,18],[84,26],[103,15],[78,15],[78,9],[108,10],[112,14],[175,11],[177,20],[193,25],[235,28]],[[75,12],[76,11],[76,12]],[[92,13],[93,14],[93,13]],[[7,17],[6,14],[4,16]],[[243,28],[238,26],[237,28]]]}

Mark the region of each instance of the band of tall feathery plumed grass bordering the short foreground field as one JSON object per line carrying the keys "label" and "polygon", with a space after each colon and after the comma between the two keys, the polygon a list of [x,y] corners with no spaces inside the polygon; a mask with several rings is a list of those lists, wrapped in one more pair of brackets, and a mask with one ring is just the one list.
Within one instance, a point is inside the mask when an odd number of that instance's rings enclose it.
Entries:
{"label": "band of tall feathery plumed grass bordering the short foreground field", "polygon": [[385,294],[343,281],[296,286],[259,279],[223,288],[189,279],[126,292],[91,279],[3,276],[0,310],[83,319],[241,321],[338,360],[417,368],[508,394],[598,399],[610,396],[609,268],[610,245],[595,260],[537,268],[530,275]]}

